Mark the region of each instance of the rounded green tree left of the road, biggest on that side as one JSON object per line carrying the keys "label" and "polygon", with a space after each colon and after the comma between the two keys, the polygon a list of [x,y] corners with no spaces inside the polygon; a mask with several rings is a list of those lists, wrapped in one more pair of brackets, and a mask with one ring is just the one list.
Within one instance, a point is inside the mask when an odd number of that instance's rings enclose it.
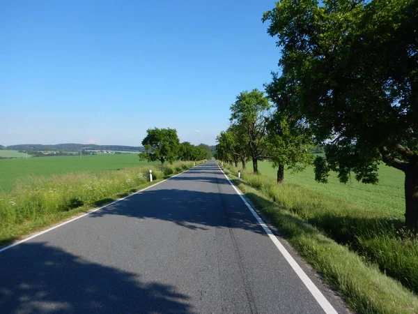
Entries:
{"label": "rounded green tree left of the road, biggest on that side", "polygon": [[149,128],[146,133],[142,140],[145,152],[139,154],[139,160],[160,160],[162,166],[177,160],[180,141],[175,128]]}

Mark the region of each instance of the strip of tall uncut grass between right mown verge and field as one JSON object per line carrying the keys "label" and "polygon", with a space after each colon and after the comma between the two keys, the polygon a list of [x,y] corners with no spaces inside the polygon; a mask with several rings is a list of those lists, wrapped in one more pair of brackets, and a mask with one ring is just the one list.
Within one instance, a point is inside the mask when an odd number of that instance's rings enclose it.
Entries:
{"label": "strip of tall uncut grass between right mown verge and field", "polygon": [[[237,170],[229,167],[233,174]],[[418,239],[403,229],[403,221],[380,209],[322,195],[295,184],[277,184],[272,177],[244,173],[247,184],[286,211],[323,230],[339,244],[376,263],[384,274],[418,293]]]}

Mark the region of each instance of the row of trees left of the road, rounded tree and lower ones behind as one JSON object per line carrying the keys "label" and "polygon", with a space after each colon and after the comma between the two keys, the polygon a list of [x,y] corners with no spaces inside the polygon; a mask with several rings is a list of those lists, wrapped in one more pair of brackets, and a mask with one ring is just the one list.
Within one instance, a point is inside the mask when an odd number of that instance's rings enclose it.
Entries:
{"label": "row of trees left of the road, rounded tree and lower ones behind", "polygon": [[189,142],[180,143],[175,128],[150,128],[146,133],[142,140],[145,151],[139,154],[139,160],[160,161],[164,165],[166,161],[173,163],[179,159],[196,161],[212,158],[210,147],[206,144],[194,146]]}

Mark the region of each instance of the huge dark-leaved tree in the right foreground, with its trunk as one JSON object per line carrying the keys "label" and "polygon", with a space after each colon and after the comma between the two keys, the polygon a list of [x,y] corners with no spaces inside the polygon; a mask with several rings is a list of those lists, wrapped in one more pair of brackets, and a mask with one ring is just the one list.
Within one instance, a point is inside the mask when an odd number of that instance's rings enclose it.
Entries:
{"label": "huge dark-leaved tree in the right foreground, with its trunk", "polygon": [[[330,170],[376,184],[380,162],[405,173],[405,223],[418,230],[418,2],[281,0],[264,13],[281,47],[282,75]],[[331,139],[331,140],[330,140]]]}

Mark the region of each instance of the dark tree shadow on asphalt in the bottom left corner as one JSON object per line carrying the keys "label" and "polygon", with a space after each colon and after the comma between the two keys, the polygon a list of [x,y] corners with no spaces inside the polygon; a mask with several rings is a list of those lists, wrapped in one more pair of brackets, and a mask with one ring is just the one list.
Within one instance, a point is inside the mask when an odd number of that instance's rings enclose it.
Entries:
{"label": "dark tree shadow on asphalt in the bottom left corner", "polygon": [[137,274],[83,260],[46,243],[20,244],[12,251],[27,260],[33,276],[27,276],[27,270],[10,273],[13,260],[3,263],[1,313],[192,313],[189,297],[170,285],[141,283]]}

